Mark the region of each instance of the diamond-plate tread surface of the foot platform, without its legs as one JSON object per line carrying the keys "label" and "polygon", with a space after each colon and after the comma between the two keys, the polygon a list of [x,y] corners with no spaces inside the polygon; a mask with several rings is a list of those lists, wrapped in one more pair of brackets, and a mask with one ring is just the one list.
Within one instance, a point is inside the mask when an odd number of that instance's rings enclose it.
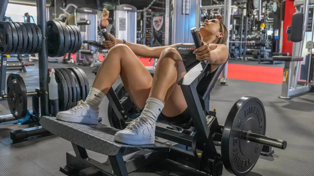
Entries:
{"label": "diamond-plate tread surface of the foot platform, without its legs", "polygon": [[57,120],[56,117],[43,116],[42,127],[52,134],[66,139],[80,147],[104,155],[116,155],[121,148],[147,148],[158,152],[169,152],[170,147],[156,143],[153,145],[127,145],[113,140],[116,128],[98,123],[89,125]]}

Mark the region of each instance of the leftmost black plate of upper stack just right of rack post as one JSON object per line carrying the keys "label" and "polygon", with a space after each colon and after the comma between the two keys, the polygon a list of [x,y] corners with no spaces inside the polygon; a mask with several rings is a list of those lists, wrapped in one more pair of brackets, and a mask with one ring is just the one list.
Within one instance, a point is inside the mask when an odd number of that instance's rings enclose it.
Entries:
{"label": "leftmost black plate of upper stack just right of rack post", "polygon": [[47,21],[47,44],[49,57],[61,57],[64,48],[63,29],[57,21]]}

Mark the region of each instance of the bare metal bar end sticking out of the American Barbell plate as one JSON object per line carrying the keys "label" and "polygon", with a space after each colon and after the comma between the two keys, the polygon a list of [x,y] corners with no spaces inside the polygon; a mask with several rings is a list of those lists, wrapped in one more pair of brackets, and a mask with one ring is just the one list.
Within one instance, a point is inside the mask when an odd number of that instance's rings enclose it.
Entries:
{"label": "bare metal bar end sticking out of the American Barbell plate", "polygon": [[273,137],[268,137],[268,136],[252,133],[252,132],[247,132],[246,140],[263,144],[263,145],[268,145],[274,148],[285,149],[287,147],[287,142],[284,140],[280,140]]}

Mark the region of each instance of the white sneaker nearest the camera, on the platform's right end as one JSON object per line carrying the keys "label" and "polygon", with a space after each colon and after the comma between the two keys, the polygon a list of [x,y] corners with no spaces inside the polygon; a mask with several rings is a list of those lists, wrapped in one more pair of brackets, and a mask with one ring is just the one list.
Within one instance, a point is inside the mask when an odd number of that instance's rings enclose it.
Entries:
{"label": "white sneaker nearest the camera, on the platform's right end", "polygon": [[124,130],[118,131],[114,140],[129,145],[146,145],[155,142],[155,122],[146,117],[139,116],[133,120]]}

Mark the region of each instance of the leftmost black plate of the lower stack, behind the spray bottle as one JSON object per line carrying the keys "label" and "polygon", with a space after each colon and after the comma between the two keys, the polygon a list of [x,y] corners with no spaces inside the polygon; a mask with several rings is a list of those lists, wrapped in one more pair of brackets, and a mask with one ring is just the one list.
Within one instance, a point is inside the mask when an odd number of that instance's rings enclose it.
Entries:
{"label": "leftmost black plate of the lower stack, behind the spray bottle", "polygon": [[68,84],[57,68],[55,68],[55,76],[58,83],[59,111],[65,111],[69,100]]}

